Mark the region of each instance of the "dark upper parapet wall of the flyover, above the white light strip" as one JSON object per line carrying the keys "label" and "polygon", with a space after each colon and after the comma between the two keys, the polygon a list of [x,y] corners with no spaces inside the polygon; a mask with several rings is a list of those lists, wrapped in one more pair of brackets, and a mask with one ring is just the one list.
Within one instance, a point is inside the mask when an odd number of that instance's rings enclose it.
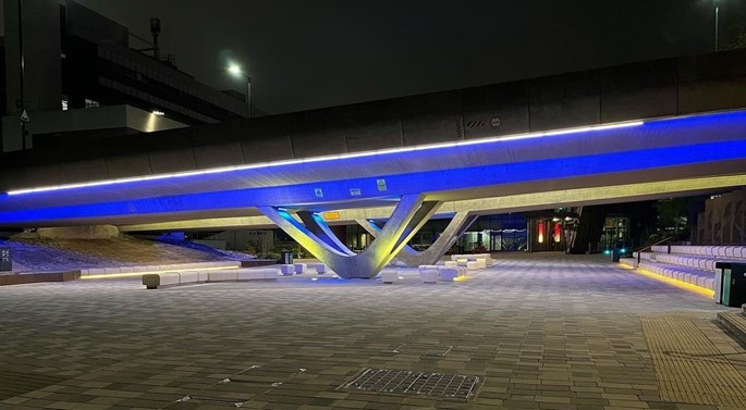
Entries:
{"label": "dark upper parapet wall of the flyover, above the white light strip", "polygon": [[0,190],[744,107],[746,50],[734,50],[13,152]]}

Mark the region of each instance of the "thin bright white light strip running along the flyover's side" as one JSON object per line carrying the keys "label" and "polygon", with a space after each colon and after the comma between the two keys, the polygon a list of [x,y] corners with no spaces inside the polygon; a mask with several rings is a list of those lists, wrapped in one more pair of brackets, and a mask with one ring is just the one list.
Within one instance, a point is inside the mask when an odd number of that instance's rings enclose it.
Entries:
{"label": "thin bright white light strip running along the flyover's side", "polygon": [[518,140],[518,139],[545,138],[545,137],[552,137],[552,136],[559,136],[559,135],[566,135],[566,134],[579,134],[579,133],[599,132],[599,131],[606,131],[606,129],[628,128],[628,127],[640,126],[643,124],[645,124],[643,121],[635,121],[635,122],[608,124],[608,125],[596,125],[596,126],[555,129],[555,131],[549,131],[549,132],[542,132],[542,133],[513,134],[513,135],[506,135],[506,136],[480,138],[480,139],[469,139],[469,140],[461,140],[461,141],[453,141],[453,142],[428,144],[428,145],[420,145],[420,146],[413,146],[413,147],[389,148],[389,149],[380,149],[380,150],[372,150],[372,151],[342,153],[342,154],[334,154],[334,156],[303,158],[303,159],[295,159],[295,160],[260,162],[260,163],[254,163],[254,164],[247,164],[247,165],[222,166],[222,167],[213,167],[213,169],[199,170],[199,171],[186,171],[186,172],[178,172],[178,173],[169,173],[169,174],[136,176],[136,177],[129,177],[129,178],[94,181],[94,182],[78,183],[78,184],[52,185],[52,186],[44,186],[44,187],[38,187],[38,188],[14,189],[14,190],[8,191],[8,195],[9,196],[19,196],[19,195],[24,195],[24,194],[49,192],[49,191],[57,191],[57,190],[68,190],[68,189],[76,189],[76,188],[119,185],[119,184],[137,183],[137,182],[145,182],[145,181],[183,178],[183,177],[187,177],[187,176],[220,174],[220,173],[234,172],[234,171],[257,170],[257,169],[283,166],[283,165],[295,165],[295,164],[303,164],[303,163],[310,163],[310,162],[337,161],[337,160],[346,160],[346,159],[351,159],[351,158],[374,157],[374,156],[383,156],[383,154],[412,152],[412,151],[425,151],[425,150],[439,149],[439,148],[451,148],[451,147],[464,147],[464,146],[482,145],[482,144],[494,144],[494,142],[512,141],[512,140]]}

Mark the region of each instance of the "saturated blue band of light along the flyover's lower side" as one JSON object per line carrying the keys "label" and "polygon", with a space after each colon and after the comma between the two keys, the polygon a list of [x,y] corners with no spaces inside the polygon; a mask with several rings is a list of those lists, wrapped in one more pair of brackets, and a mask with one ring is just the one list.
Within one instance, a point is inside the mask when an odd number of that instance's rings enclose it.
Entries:
{"label": "saturated blue band of light along the flyover's lower side", "polygon": [[[634,158],[634,161],[631,160]],[[720,141],[707,145],[680,146],[613,152],[597,156],[559,158],[519,163],[474,166],[466,169],[437,170],[413,174],[387,176],[390,195],[444,191],[501,184],[527,183],[549,178],[570,178],[603,173],[649,170],[664,166],[729,161],[746,158],[746,140]],[[746,181],[744,182],[746,183]],[[365,189],[369,186],[369,189]],[[363,187],[363,198],[378,198],[376,178],[354,178],[325,183],[298,184],[281,187],[260,187],[217,192],[200,192],[145,198],[130,201],[111,201],[81,206],[53,207],[35,210],[0,212],[0,223],[24,223],[61,219],[111,218],[240,209],[283,203],[311,203],[314,188],[325,190],[325,199],[344,201],[350,199],[350,187]],[[328,192],[328,194],[327,194]],[[358,197],[356,197],[358,198]],[[301,226],[284,209],[280,214]]]}

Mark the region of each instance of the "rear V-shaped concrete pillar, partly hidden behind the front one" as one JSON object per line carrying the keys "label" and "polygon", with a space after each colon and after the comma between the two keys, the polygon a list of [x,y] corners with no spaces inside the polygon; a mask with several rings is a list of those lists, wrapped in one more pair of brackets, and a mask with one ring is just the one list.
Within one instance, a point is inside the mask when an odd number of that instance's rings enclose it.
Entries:
{"label": "rear V-shaped concrete pillar, partly hidden behind the front one", "polygon": [[[443,231],[438,239],[436,239],[427,249],[416,251],[412,249],[412,247],[405,246],[402,251],[396,254],[396,258],[407,266],[435,264],[449,249],[451,249],[453,244],[455,244],[456,240],[458,240],[458,237],[472,226],[477,218],[479,218],[479,215],[472,214],[470,212],[457,212],[451,220],[451,223],[445,227],[445,231]],[[375,237],[378,237],[382,231],[378,225],[368,220],[357,220],[356,222]],[[387,225],[389,223],[387,222]]]}

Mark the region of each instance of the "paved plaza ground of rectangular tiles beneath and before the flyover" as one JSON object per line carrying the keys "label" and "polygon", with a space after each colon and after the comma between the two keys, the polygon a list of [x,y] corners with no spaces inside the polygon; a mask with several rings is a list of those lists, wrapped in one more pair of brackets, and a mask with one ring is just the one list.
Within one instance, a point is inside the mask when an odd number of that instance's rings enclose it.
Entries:
{"label": "paved plaza ground of rectangular tiles beneath and before the flyover", "polygon": [[[746,349],[714,324],[725,308],[599,257],[503,256],[458,283],[403,277],[0,287],[0,409],[726,409],[664,401],[686,397],[661,394],[686,388],[670,385],[682,361],[682,377],[707,365],[670,337],[678,328],[746,375]],[[468,401],[339,388],[365,368],[479,384]]]}

